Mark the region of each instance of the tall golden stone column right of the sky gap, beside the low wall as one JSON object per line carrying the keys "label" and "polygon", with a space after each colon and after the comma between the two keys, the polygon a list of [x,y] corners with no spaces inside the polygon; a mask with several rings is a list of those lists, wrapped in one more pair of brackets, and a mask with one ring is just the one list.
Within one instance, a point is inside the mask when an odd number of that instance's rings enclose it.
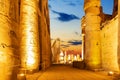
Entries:
{"label": "tall golden stone column right of the sky gap, beside the low wall", "polygon": [[85,0],[85,63],[88,69],[101,68],[100,0]]}

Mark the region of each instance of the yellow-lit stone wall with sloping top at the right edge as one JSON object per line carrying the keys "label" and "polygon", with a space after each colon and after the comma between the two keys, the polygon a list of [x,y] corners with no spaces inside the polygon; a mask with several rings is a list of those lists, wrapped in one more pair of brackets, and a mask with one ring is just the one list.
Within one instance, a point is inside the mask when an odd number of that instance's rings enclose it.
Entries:
{"label": "yellow-lit stone wall with sloping top at the right edge", "polygon": [[105,70],[118,71],[118,16],[103,23],[101,30],[102,67]]}

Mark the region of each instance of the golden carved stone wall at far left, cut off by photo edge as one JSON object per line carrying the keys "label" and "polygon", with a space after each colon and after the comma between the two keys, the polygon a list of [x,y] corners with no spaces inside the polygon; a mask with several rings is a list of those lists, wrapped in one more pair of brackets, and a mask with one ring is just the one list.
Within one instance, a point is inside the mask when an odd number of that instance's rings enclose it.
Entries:
{"label": "golden carved stone wall at far left, cut off by photo edge", "polygon": [[0,80],[17,80],[19,1],[0,1]]}

